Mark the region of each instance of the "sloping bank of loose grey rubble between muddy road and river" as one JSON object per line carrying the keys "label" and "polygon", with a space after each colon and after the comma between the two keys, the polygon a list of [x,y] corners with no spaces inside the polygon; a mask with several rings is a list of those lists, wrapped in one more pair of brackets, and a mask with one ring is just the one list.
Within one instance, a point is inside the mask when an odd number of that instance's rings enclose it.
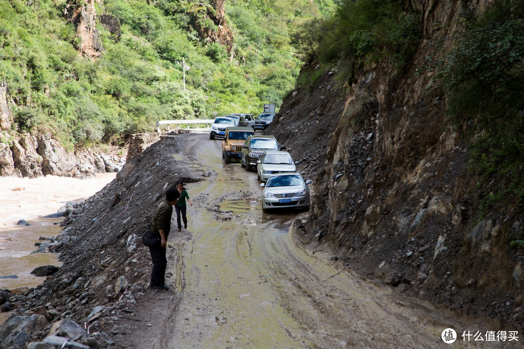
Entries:
{"label": "sloping bank of loose grey rubble between muddy road and river", "polygon": [[[133,317],[137,298],[152,292],[151,258],[140,238],[156,207],[178,181],[193,183],[213,176],[198,171],[197,159],[179,156],[180,149],[172,132],[134,156],[100,192],[75,204],[62,222],[65,228],[51,239],[61,247],[56,252],[61,252],[62,267],[36,288],[0,292],[3,310],[16,309],[24,321],[34,314],[47,319],[32,341],[49,335],[53,323],[71,319],[89,332],[79,343],[115,347],[110,338],[117,333],[119,317]],[[5,326],[2,331],[8,332]]]}

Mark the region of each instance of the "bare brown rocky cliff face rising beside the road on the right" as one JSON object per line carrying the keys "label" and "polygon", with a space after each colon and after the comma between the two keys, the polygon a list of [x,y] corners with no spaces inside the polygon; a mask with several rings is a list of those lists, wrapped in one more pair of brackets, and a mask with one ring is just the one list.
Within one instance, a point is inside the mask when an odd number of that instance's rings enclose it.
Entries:
{"label": "bare brown rocky cliff face rising beside the road on the right", "polygon": [[[522,230],[522,208],[475,221],[467,131],[446,126],[439,81],[424,67],[436,53],[434,38],[458,28],[466,8],[486,5],[417,3],[423,42],[405,76],[373,66],[337,87],[332,76],[342,67],[326,71],[311,94],[298,88],[286,98],[266,133],[288,140],[304,161],[299,170],[314,176],[311,217],[295,224],[310,248],[329,246],[364,275],[522,328],[522,263],[508,244],[509,234]],[[301,137],[290,137],[293,131]]]}

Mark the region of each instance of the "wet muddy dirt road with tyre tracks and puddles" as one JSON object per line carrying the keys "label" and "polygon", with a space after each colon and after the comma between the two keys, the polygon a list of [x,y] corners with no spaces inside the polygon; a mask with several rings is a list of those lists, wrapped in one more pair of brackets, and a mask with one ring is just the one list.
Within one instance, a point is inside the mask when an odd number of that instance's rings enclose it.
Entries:
{"label": "wet muddy dirt road with tyre tracks and puddles", "polygon": [[[185,159],[216,177],[186,187],[194,203],[189,226],[168,243],[169,291],[148,290],[122,319],[126,348],[440,348],[516,347],[464,342],[464,331],[496,331],[481,320],[456,319],[337,269],[329,256],[294,243],[292,221],[307,213],[261,212],[256,173],[223,164],[221,141],[188,134]],[[185,142],[185,140],[184,140]],[[307,178],[309,179],[309,178]],[[474,342],[474,343],[472,343]],[[520,344],[520,343],[518,343]]]}

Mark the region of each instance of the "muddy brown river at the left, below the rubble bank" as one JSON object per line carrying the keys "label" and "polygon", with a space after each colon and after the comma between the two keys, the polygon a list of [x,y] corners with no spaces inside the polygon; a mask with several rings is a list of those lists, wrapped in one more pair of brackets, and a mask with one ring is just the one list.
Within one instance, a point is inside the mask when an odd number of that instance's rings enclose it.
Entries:
{"label": "muddy brown river at the left, below the rubble bank", "polygon": [[[60,233],[62,218],[42,218],[68,201],[83,200],[115,178],[115,173],[100,173],[87,179],[45,176],[38,178],[0,177],[0,289],[36,287],[46,277],[31,275],[42,265],[60,266],[57,253],[34,253],[40,237]],[[30,226],[17,226],[25,219]],[[0,323],[10,312],[0,313]]]}

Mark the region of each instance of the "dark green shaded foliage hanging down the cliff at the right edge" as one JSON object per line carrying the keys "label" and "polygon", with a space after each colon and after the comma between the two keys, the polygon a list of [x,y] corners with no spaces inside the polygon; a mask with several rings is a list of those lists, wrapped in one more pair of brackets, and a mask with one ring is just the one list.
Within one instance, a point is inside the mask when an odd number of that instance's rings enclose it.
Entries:
{"label": "dark green shaded foliage hanging down the cliff at the right edge", "polygon": [[449,121],[475,135],[471,168],[492,183],[483,216],[496,204],[524,200],[524,3],[504,0],[482,16],[466,15],[441,77]]}

